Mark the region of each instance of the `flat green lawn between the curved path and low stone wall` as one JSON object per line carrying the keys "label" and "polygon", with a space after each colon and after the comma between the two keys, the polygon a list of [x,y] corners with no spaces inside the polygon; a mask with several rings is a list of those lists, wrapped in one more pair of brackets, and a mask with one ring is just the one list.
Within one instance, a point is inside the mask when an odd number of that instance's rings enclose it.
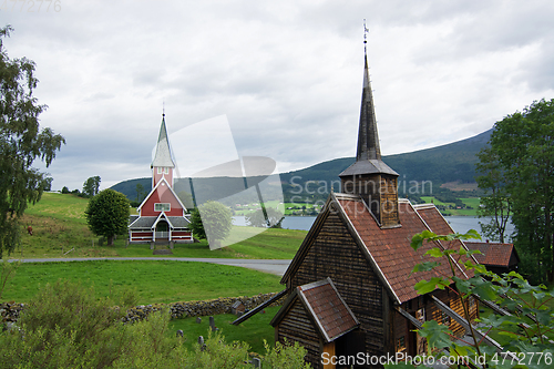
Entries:
{"label": "flat green lawn between the curved path and low stone wall", "polygon": [[140,304],[254,296],[283,289],[280,277],[242,267],[193,262],[22,263],[8,281],[2,299],[25,303],[40,286],[59,279],[94,286],[99,296],[135,288]]}

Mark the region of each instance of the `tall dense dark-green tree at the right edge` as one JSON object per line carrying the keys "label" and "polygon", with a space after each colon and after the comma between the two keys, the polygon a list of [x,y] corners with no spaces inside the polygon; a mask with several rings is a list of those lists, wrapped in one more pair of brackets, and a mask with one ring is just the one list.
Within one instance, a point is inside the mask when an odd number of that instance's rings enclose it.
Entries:
{"label": "tall dense dark-green tree at the right edge", "polygon": [[[490,154],[497,157],[515,226],[522,271],[554,280],[554,99],[533,102],[496,122]],[[494,158],[496,160],[496,158]]]}

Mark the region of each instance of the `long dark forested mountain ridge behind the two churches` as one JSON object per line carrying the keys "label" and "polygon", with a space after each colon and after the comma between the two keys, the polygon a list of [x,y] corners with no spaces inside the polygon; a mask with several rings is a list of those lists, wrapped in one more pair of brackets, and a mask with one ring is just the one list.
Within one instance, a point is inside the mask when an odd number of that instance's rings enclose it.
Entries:
{"label": "long dark forested mountain ridge behind the two churches", "polygon": [[[478,162],[475,154],[486,144],[491,133],[492,129],[470,139],[411,153],[387,155],[382,160],[400,175],[400,193],[408,193],[410,191],[409,185],[413,181],[418,183],[428,183],[429,181],[432,183],[433,188],[438,188],[441,184],[448,182],[473,183],[475,182],[475,163]],[[334,191],[339,191],[340,181],[338,175],[352,164],[355,160],[355,157],[341,157],[304,170],[281,173],[280,180],[285,199],[298,203],[325,201],[331,187]],[[236,182],[235,180],[232,181]],[[151,191],[152,178],[123,181],[112,186],[112,188],[134,201],[137,197],[136,185],[138,183],[144,187],[146,193]],[[199,183],[202,183],[202,186],[198,187],[203,189],[209,185],[212,186],[212,191],[222,195],[229,192],[226,188],[225,178],[220,178],[220,181],[208,178]],[[175,192],[177,194],[191,193],[188,181],[176,182]],[[246,198],[245,202],[247,202]],[[185,205],[188,206],[187,204]]]}

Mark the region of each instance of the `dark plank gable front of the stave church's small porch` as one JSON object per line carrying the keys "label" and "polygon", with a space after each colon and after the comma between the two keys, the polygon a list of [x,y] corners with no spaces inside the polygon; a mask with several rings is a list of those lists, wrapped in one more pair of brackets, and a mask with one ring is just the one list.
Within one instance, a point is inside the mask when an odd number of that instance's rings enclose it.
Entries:
{"label": "dark plank gable front of the stave church's small porch", "polygon": [[288,342],[300,344],[308,351],[306,361],[311,363],[314,368],[322,368],[322,344],[316,329],[301,303],[296,300],[277,327],[278,340],[281,344],[285,342],[285,339]]}

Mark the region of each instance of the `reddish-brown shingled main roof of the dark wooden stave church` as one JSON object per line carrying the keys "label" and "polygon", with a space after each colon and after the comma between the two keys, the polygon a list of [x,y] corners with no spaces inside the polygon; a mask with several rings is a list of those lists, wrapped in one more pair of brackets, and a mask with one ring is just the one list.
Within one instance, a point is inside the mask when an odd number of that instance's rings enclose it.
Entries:
{"label": "reddish-brown shingled main roof of the dark wooden stave church", "polygon": [[[434,208],[433,212],[440,213]],[[452,233],[448,223],[442,216],[434,216],[432,209],[425,213],[423,217],[407,199],[399,199],[399,218],[400,226],[393,228],[381,228],[366,206],[361,197],[357,195],[347,195],[332,193],[326,204],[326,211],[338,212],[339,217],[346,224],[350,235],[366,255],[372,269],[389,291],[389,295],[397,304],[411,300],[418,297],[414,286],[421,279],[429,280],[441,275],[450,275],[450,267],[445,260],[440,260],[434,257],[424,255],[433,247],[445,248],[448,245],[439,243],[423,243],[418,250],[414,250],[410,244],[413,235],[422,230],[431,230],[431,226],[439,229],[435,232],[441,234]],[[421,209],[420,209],[421,211]],[[281,283],[286,283],[296,269],[301,265],[307,249],[310,247],[312,239],[317,237],[317,227],[324,222],[325,214],[320,214],[320,221],[316,219],[312,229],[300,246],[297,255],[290,263],[289,268],[285,273]],[[429,222],[423,221],[425,218]],[[433,270],[419,271],[412,274],[413,267],[422,262],[440,262],[441,264]],[[466,279],[469,276],[463,271],[455,260],[455,273],[460,278]]]}

